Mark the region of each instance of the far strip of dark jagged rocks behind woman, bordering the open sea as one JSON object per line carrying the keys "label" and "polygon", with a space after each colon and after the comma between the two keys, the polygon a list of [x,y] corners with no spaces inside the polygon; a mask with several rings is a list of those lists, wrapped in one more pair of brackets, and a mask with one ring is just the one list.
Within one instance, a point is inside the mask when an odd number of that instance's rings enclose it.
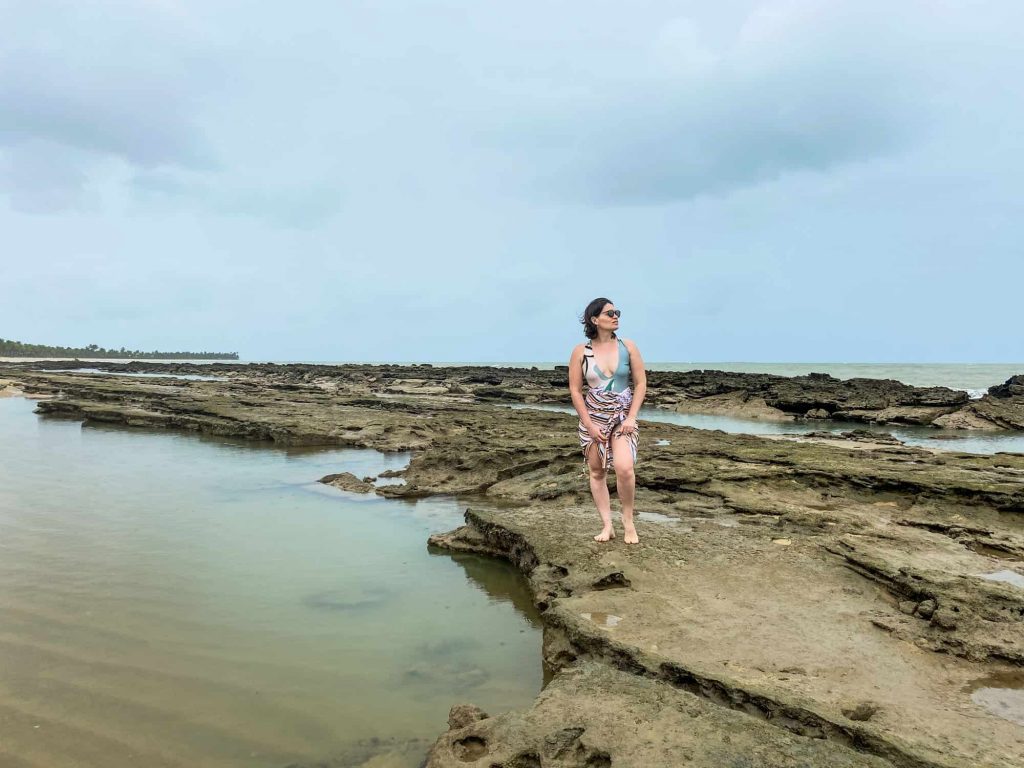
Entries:
{"label": "far strip of dark jagged rocks behind woman, bordering the open sea", "polygon": [[[0,371],[75,368],[110,373],[258,376],[305,383],[339,393],[435,394],[462,401],[566,404],[568,374],[554,370],[485,367],[313,366],[275,364],[43,362],[2,364]],[[913,387],[891,379],[836,379],[827,374],[784,377],[725,371],[648,372],[647,403],[686,414],[772,421],[836,420],[945,429],[1024,430],[1024,375],[972,400],[946,387]]]}

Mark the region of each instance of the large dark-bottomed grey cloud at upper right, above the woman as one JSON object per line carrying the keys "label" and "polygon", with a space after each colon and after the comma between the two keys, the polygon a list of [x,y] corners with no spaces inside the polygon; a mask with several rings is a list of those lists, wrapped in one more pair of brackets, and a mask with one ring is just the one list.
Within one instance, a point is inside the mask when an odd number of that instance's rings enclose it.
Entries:
{"label": "large dark-bottomed grey cloud at upper right, above the woman", "polygon": [[541,158],[523,174],[534,190],[626,205],[898,153],[932,118],[932,83],[905,48],[938,26],[909,5],[773,0],[717,50],[698,20],[672,18],[650,37],[647,71],[536,104],[497,143]]}

